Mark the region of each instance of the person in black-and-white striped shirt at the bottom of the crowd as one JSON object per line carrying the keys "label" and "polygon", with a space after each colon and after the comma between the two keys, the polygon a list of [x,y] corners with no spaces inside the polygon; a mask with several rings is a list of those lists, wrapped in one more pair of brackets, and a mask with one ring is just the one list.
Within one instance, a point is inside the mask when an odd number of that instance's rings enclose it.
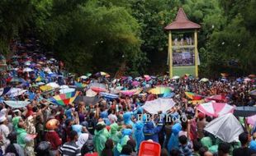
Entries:
{"label": "person in black-and-white striped shirt at the bottom of the crowd", "polygon": [[76,131],[70,131],[69,138],[70,141],[59,148],[59,154],[63,156],[80,156],[81,151],[78,145],[76,145],[76,141],[78,140],[78,133]]}

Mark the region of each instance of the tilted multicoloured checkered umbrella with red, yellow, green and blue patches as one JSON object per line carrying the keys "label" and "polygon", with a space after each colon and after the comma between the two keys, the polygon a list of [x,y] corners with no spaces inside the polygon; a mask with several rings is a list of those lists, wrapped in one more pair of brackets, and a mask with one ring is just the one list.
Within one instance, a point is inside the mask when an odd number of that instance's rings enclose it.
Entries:
{"label": "tilted multicoloured checkered umbrella with red, yellow, green and blue patches", "polygon": [[71,92],[66,94],[59,94],[49,99],[51,103],[55,103],[61,106],[66,106],[71,103],[77,98],[79,92]]}

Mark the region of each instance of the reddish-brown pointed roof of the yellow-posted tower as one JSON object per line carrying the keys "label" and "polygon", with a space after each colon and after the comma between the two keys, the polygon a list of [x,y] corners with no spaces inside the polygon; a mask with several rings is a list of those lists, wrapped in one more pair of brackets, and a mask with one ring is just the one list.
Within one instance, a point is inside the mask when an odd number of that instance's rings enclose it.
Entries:
{"label": "reddish-brown pointed roof of the yellow-posted tower", "polygon": [[201,25],[189,21],[187,19],[186,13],[183,11],[183,8],[180,7],[178,9],[178,14],[171,24],[167,25],[164,29],[165,30],[192,30],[192,29],[199,29]]}

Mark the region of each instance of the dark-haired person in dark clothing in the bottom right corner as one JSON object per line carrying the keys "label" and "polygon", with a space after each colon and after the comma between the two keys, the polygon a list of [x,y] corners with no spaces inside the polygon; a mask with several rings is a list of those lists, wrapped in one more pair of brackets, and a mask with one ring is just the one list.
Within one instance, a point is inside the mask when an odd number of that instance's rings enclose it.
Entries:
{"label": "dark-haired person in dark clothing in the bottom right corner", "polygon": [[242,133],[239,135],[239,141],[241,142],[241,147],[233,150],[233,156],[249,156],[252,154],[256,154],[253,149],[248,148],[249,137],[247,133]]}

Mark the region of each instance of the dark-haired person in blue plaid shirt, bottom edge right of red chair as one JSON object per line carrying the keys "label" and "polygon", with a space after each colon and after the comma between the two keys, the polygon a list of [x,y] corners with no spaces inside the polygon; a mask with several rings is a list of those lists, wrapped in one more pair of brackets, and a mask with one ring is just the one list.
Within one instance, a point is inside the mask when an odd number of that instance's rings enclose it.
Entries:
{"label": "dark-haired person in blue plaid shirt, bottom edge right of red chair", "polygon": [[186,135],[181,135],[178,137],[178,141],[180,143],[179,145],[179,151],[181,152],[180,155],[182,156],[190,156],[192,155],[192,144],[190,141],[187,141]]}

